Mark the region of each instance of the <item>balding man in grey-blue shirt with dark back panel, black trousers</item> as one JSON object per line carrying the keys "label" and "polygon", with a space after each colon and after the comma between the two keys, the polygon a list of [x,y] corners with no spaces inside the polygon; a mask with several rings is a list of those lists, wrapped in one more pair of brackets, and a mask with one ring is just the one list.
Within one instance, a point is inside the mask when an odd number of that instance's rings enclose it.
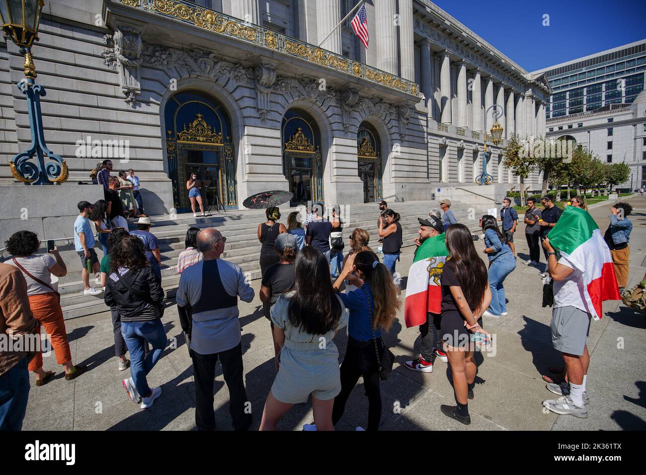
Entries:
{"label": "balding man in grey-blue shirt with dark back panel, black trousers", "polygon": [[204,259],[184,269],[176,296],[193,359],[195,424],[200,430],[215,429],[213,379],[218,358],[229,388],[233,428],[247,430],[251,425],[251,414],[245,412],[238,297],[251,302],[254,291],[238,264],[220,259],[226,240],[214,227],[198,233],[197,246]]}

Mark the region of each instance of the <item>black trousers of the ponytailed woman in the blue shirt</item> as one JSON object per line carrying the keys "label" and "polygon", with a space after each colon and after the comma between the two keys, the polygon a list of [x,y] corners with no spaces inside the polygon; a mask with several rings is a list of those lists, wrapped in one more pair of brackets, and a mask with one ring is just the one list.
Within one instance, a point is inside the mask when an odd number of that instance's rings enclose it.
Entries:
{"label": "black trousers of the ponytailed woman in the blue shirt", "polygon": [[[379,344],[379,354],[383,352],[381,339],[377,340]],[[375,343],[373,340],[368,342],[357,341],[348,337],[348,350],[341,363],[341,392],[334,399],[334,408],[332,410],[332,423],[337,425],[343,412],[346,409],[346,401],[354,389],[359,377],[364,379],[364,389],[368,396],[368,428],[366,430],[377,430],[381,420],[381,390],[379,388],[379,366],[377,364],[377,355],[375,354]]]}

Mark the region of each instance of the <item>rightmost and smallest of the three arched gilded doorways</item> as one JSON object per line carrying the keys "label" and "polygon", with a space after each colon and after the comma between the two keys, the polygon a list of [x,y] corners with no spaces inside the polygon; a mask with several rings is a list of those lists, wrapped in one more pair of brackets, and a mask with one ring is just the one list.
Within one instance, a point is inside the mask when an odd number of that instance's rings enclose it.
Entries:
{"label": "rightmost and smallest of the three arched gilded doorways", "polygon": [[357,131],[357,168],[364,186],[364,203],[381,200],[381,142],[377,130],[368,122],[362,122]]}

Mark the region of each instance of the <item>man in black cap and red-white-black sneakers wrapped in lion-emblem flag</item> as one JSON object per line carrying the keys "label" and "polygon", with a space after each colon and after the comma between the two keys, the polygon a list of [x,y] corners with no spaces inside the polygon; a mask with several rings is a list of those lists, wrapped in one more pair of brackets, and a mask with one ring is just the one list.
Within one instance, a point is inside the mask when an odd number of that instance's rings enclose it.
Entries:
{"label": "man in black cap and red-white-black sneakers wrapped in lion-emblem flag", "polygon": [[417,218],[421,244],[415,252],[413,265],[408,271],[404,321],[406,327],[419,325],[422,333],[421,354],[417,359],[406,361],[406,368],[424,373],[433,372],[435,357],[446,363],[446,354],[437,349],[437,331],[442,302],[440,277],[448,251],[444,244],[442,219],[430,214]]}

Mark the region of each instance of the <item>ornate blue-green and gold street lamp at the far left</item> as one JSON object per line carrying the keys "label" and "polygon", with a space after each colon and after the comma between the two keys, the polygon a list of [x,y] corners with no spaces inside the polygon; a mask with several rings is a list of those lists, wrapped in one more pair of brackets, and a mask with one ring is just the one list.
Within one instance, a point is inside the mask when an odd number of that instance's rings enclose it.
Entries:
{"label": "ornate blue-green and gold street lamp at the far left", "polygon": [[[25,79],[17,83],[17,86],[27,96],[32,143],[27,151],[14,156],[14,160],[9,162],[9,167],[16,180],[28,185],[62,183],[68,176],[67,163],[50,151],[45,143],[40,107],[40,97],[45,96],[45,88],[34,81],[36,67],[31,47],[38,39],[43,5],[44,0],[0,0],[3,33],[7,39],[16,43],[20,53],[25,55]],[[36,160],[32,161],[34,156]]]}

